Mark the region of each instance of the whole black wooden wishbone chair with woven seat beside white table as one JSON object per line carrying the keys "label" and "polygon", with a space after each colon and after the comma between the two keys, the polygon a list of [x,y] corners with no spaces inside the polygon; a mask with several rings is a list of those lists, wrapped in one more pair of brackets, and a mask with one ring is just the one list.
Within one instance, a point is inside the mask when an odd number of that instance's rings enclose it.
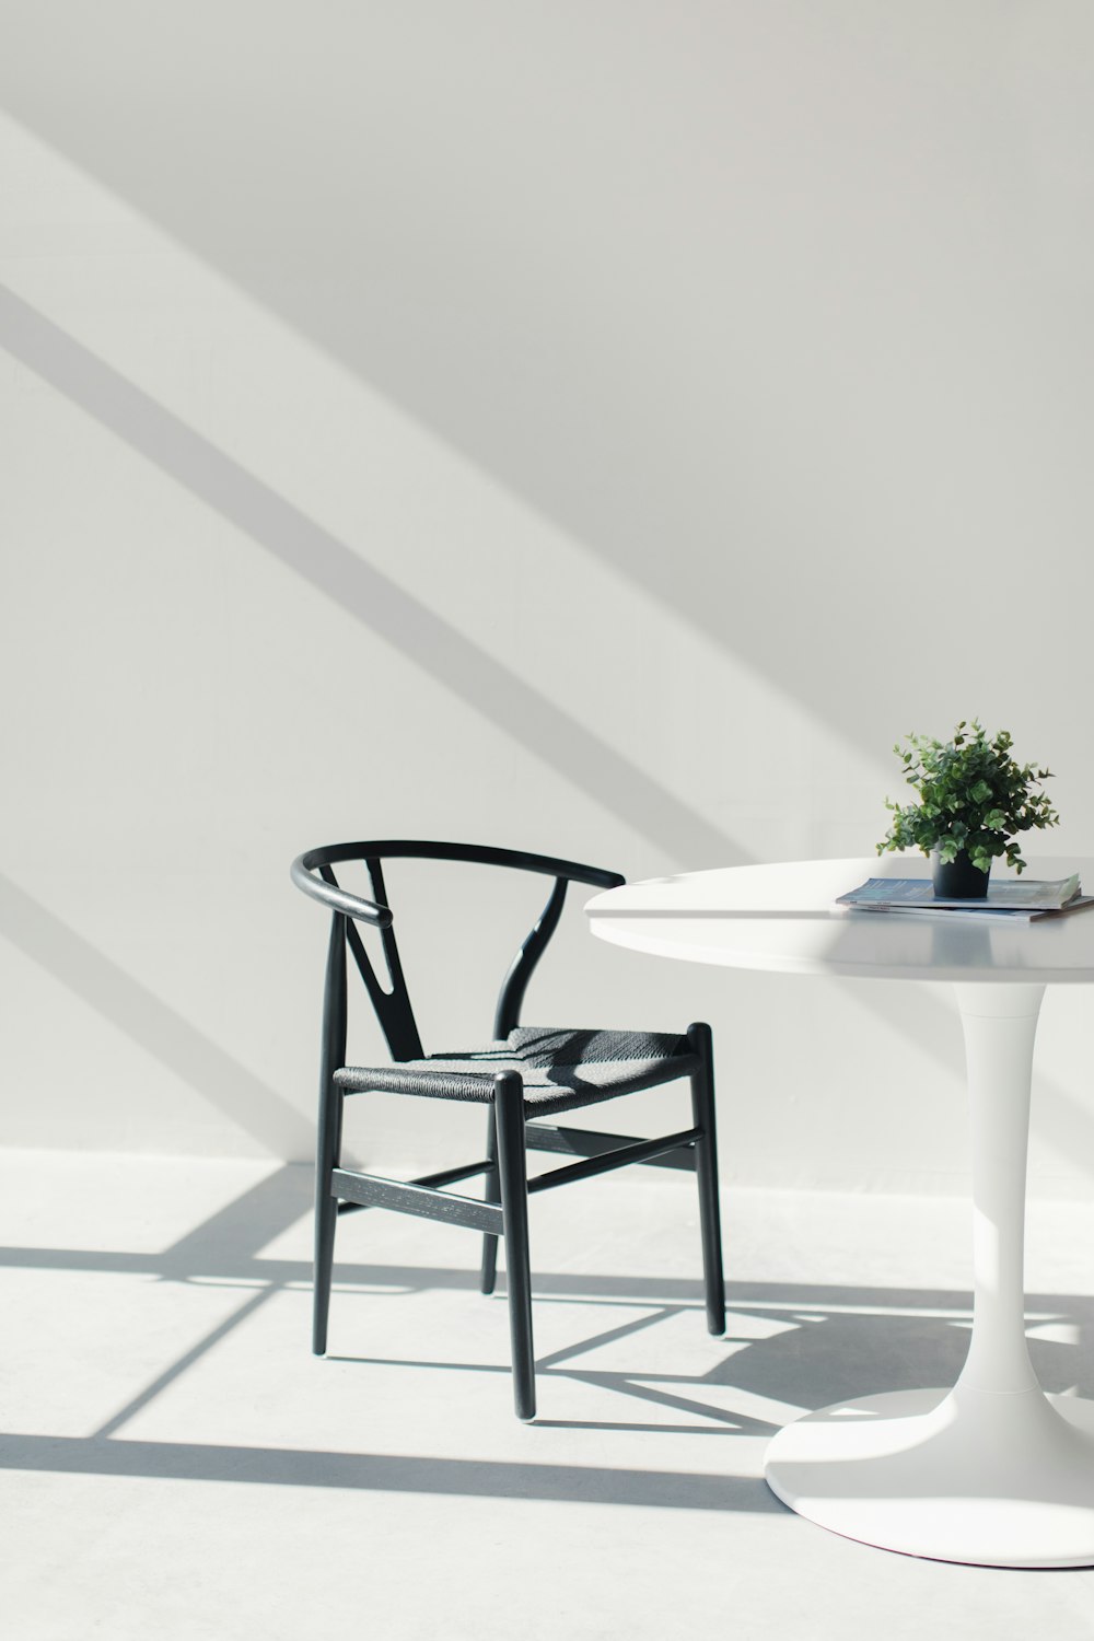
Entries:
{"label": "whole black wooden wishbone chair with woven seat beside white table", "polygon": [[[382,862],[394,857],[474,862],[510,866],[554,878],[551,896],[517,957],[497,1001],[494,1040],[459,1054],[426,1057],[415,1024],[395,945]],[[348,894],[331,866],[364,862],[374,901]],[[318,875],[317,875],[318,873]],[[474,843],[372,842],[313,848],[292,863],[292,880],[333,912],[323,999],[320,1119],[315,1175],[315,1313],[313,1351],[326,1351],[335,1226],[341,1213],[392,1208],[484,1232],[482,1291],[494,1291],[497,1239],[505,1237],[508,1319],[513,1351],[517,1416],[535,1418],[535,1360],[531,1351],[531,1278],[528,1268],[528,1195],[571,1180],[620,1168],[630,1162],[691,1168],[699,1182],[699,1216],[707,1298],[707,1326],[725,1331],[722,1232],[718,1223],[718,1165],[713,1119],[713,1062],[709,1026],[686,1035],[663,1032],[574,1031],[520,1026],[520,1006],[543,950],[554,934],[566,888],[587,883],[610,889],[625,880],[617,871],[579,866],[572,860],[525,855]],[[376,976],[358,922],[381,930],[389,988]],[[346,1065],[346,947],[379,1016],[392,1065]],[[692,1127],[661,1139],[631,1139],[590,1129],[530,1122],[530,1118],[576,1111],[641,1088],[691,1080]],[[340,1167],[341,1116],[346,1095],[390,1091],[461,1099],[489,1108],[485,1159],[444,1168],[420,1180],[399,1182]],[[577,1157],[528,1180],[525,1149]],[[458,1180],[485,1177],[484,1200],[443,1190]]]}

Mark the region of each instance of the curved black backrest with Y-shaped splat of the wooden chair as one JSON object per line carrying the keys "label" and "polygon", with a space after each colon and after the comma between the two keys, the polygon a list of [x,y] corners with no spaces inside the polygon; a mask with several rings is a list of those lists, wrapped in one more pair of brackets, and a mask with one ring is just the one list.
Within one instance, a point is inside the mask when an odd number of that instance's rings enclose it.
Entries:
{"label": "curved black backrest with Y-shaped splat of the wooden chair", "polygon": [[[348,944],[384,1037],[387,1039],[387,1047],[395,1060],[420,1058],[422,1037],[418,1035],[413,1008],[410,1006],[410,994],[395,940],[394,914],[387,904],[387,889],[384,886],[382,862],[392,858],[456,860],[485,866],[507,866],[517,871],[533,871],[554,878],[546,906],[522,942],[502,981],[494,1016],[495,1039],[507,1037],[520,1021],[525,990],[536,963],[543,957],[548,940],[558,927],[568,884],[587,883],[594,888],[613,889],[627,881],[618,871],[582,866],[574,860],[556,860],[551,855],[528,855],[523,850],[492,848],[485,843],[435,843],[385,839],[366,843],[330,843],[323,848],[310,848],[307,853],[297,857],[292,863],[292,881],[299,889],[321,901],[333,912],[325,1017],[328,1021],[341,1021],[340,1035],[344,1044],[344,947]],[[364,901],[341,888],[331,868],[344,862],[364,863],[369,883],[372,884],[372,901]],[[369,953],[364,948],[364,940],[356,927],[358,922],[372,924],[381,932],[389,980],[387,988],[377,980]],[[331,996],[331,988],[340,988],[343,994]]]}

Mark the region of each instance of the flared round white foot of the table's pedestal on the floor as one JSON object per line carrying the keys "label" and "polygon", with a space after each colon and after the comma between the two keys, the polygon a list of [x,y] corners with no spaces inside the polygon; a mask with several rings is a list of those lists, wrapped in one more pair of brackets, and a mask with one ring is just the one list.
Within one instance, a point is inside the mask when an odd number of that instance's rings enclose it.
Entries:
{"label": "flared round white foot of the table's pedestal on the floor", "polygon": [[771,1490],[809,1521],[905,1556],[1094,1566],[1094,1401],[900,1390],[779,1431]]}

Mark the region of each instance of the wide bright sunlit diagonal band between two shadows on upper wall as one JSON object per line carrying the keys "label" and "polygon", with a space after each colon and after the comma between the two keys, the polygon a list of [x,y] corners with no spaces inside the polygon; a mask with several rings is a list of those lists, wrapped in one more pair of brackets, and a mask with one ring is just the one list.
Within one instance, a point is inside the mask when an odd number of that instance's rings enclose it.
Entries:
{"label": "wide bright sunlit diagonal band between two shadows on upper wall", "polygon": [[[566,720],[589,725],[759,858],[853,853],[873,842],[881,768],[832,734],[800,694],[607,568],[549,510],[461,456],[428,418],[408,417],[341,354],[262,309],[246,282],[217,274],[3,110],[0,200],[0,281],[18,299],[320,520],[507,674],[533,683]],[[149,307],[159,315],[151,327]],[[20,391],[16,379],[15,389],[18,405],[30,382]],[[43,446],[31,437],[34,448]],[[604,482],[612,486],[610,473]],[[34,514],[33,487],[23,505]],[[125,540],[123,532],[118,550]],[[694,546],[692,525],[679,519],[663,556],[676,561]],[[730,532],[717,560],[748,555],[746,533]],[[225,573],[239,576],[248,563],[244,551]],[[274,568],[289,622],[294,581]],[[725,602],[713,587],[709,597]],[[323,610],[308,599],[302,615],[321,620]],[[774,617],[750,606],[750,620],[789,661]],[[353,655],[356,647],[343,648]],[[412,661],[408,704],[435,693],[428,674],[418,683]],[[464,735],[485,732],[489,743],[489,720],[464,724],[477,714],[459,709],[453,696],[444,719],[454,712]],[[522,750],[536,753],[535,745]],[[582,809],[597,802],[584,789],[579,801]],[[861,832],[864,814],[871,820]],[[627,832],[635,832],[630,819]],[[663,870],[664,852],[640,847],[650,870]],[[725,850],[681,855],[681,863],[715,858]]]}

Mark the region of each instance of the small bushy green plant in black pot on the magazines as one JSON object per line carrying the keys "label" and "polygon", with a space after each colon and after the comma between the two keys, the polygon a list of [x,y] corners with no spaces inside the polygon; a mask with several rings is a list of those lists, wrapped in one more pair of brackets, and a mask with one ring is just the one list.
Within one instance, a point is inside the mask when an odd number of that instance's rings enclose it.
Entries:
{"label": "small bushy green plant in black pot on the magazines", "polygon": [[909,735],[905,747],[897,742],[892,750],[920,801],[899,804],[886,798],[894,819],[877,853],[919,848],[933,855],[935,894],[941,899],[986,896],[991,863],[999,855],[1023,871],[1014,839],[1033,827],[1058,825],[1060,816],[1042,789],[1051,771],[1015,763],[1010,745],[1007,730],[989,738],[978,719],[961,719],[953,740]]}

